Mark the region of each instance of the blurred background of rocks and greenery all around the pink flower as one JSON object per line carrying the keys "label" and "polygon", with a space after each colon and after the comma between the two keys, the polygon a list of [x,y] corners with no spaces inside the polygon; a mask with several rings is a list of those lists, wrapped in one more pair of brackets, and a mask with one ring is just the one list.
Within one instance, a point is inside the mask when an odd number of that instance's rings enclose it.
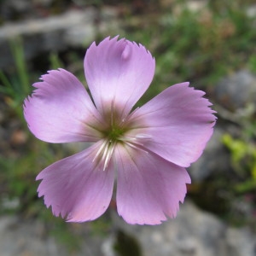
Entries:
{"label": "blurred background of rocks and greenery all around the pink flower", "polygon": [[[0,0],[0,256],[256,255],[256,3],[253,0]],[[102,218],[67,224],[38,199],[38,172],[79,152],[27,129],[32,83],[66,68],[85,85],[89,45],[119,35],[156,59],[139,105],[189,81],[218,123],[177,218],[131,226],[114,199]]]}

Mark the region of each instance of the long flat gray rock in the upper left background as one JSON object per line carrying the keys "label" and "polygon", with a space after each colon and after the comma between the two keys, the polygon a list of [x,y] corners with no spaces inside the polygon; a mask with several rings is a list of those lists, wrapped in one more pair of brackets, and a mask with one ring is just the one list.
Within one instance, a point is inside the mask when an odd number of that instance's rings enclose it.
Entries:
{"label": "long flat gray rock in the upper left background", "polygon": [[0,68],[13,63],[10,40],[22,38],[26,59],[68,46],[89,45],[96,38],[95,9],[73,10],[46,19],[8,23],[0,27]]}

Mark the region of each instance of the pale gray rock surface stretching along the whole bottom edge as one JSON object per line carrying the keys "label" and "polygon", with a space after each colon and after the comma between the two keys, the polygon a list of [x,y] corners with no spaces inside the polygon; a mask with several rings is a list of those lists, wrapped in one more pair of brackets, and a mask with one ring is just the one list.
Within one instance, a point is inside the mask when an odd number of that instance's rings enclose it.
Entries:
{"label": "pale gray rock surface stretching along the whole bottom edge", "polygon": [[[108,236],[91,236],[86,231],[90,223],[76,224],[77,229],[84,229],[84,235],[81,251],[73,256],[116,256],[113,247],[118,230],[133,237],[144,256],[255,256],[256,253],[256,236],[252,231],[229,227],[188,200],[177,218],[156,226],[126,224],[115,210],[110,211],[110,216],[112,228]],[[1,256],[70,255],[54,236],[46,236],[44,224],[38,220],[1,217],[0,237]]]}

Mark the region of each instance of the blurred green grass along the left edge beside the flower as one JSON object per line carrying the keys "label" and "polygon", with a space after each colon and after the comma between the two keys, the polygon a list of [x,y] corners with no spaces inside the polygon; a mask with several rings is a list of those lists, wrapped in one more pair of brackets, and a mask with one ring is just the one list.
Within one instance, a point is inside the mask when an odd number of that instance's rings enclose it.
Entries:
{"label": "blurred green grass along the left edge beside the flower", "polygon": [[[9,107],[11,119],[19,119],[23,125],[21,131],[26,144],[15,150],[10,144],[9,148],[3,148],[4,154],[0,154],[0,214],[19,213],[23,218],[41,218],[45,224],[50,224],[46,228],[49,234],[66,244],[68,251],[74,252],[79,249],[79,236],[65,225],[62,218],[53,217],[45,208],[44,200],[38,199],[38,182],[35,181],[44,167],[73,154],[73,150],[35,140],[28,131],[22,104],[32,92],[32,81],[38,76],[26,66],[22,40],[12,40],[10,48],[15,68],[0,70],[0,96]],[[52,69],[63,67],[55,53],[49,55],[49,63]]]}

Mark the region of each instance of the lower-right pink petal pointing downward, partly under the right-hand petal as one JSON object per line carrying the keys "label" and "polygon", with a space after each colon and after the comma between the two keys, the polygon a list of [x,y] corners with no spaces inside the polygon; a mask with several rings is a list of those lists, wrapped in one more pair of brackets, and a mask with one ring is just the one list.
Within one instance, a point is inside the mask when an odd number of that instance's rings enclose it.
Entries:
{"label": "lower-right pink petal pointing downward, partly under the right-hand petal", "polygon": [[190,177],[154,153],[119,145],[115,149],[118,166],[117,207],[129,224],[160,224],[174,218],[186,195]]}

